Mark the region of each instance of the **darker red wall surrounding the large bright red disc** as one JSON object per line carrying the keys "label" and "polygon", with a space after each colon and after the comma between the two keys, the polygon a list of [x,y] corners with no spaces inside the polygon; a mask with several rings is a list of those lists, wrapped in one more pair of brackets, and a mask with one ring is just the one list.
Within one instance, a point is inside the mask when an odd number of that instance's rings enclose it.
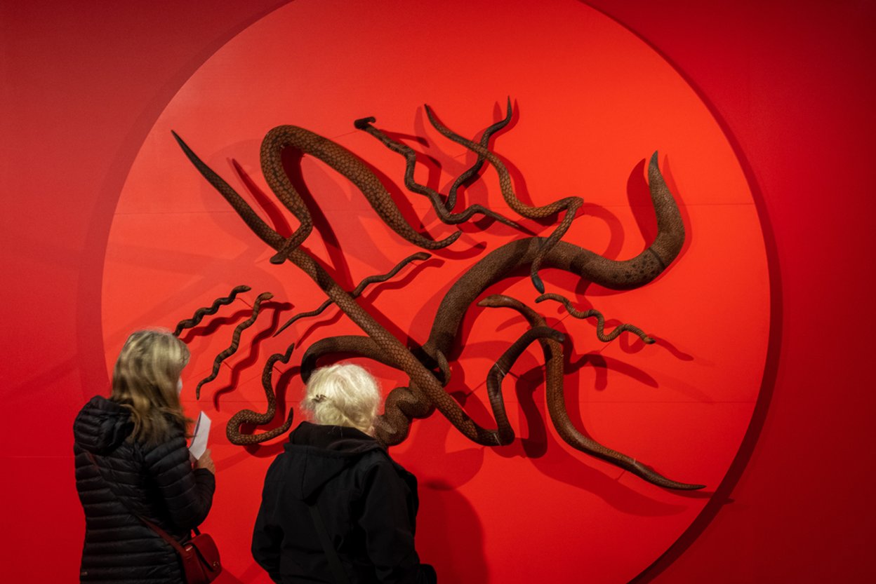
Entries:
{"label": "darker red wall surrounding the large bright red disc", "polygon": [[[0,9],[8,412],[0,457],[4,501],[17,502],[4,522],[14,528],[3,548],[11,581],[74,579],[82,520],[68,429],[106,380],[106,232],[131,161],[201,62],[279,4]],[[874,543],[865,428],[876,401],[864,355],[873,207],[865,145],[876,9],[590,4],[651,43],[710,104],[767,218],[777,266],[771,399],[761,401],[746,441],[750,461],[731,470],[705,512],[711,521],[695,524],[640,581],[865,580]],[[50,527],[58,555],[46,566],[32,543]],[[25,575],[32,566],[45,580]]]}

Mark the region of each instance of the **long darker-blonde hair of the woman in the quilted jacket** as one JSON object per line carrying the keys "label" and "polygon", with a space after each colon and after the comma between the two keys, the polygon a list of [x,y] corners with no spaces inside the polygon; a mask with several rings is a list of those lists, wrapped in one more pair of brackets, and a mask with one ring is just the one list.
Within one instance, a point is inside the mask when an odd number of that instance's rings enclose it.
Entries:
{"label": "long darker-blonde hair of the woman in the quilted jacket", "polygon": [[161,329],[131,334],[118,354],[110,399],[131,412],[131,440],[157,444],[174,426],[191,422],[180,404],[177,384],[188,363],[186,344]]}

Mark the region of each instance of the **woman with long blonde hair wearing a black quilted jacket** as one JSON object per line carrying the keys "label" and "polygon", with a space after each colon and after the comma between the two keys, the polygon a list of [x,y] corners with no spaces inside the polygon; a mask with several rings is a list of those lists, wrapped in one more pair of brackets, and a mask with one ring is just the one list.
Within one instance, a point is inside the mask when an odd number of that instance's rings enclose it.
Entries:
{"label": "woman with long blonde hair wearing a black quilted jacket", "polygon": [[[188,348],[173,334],[128,337],[109,399],[95,396],[74,422],[76,489],[85,511],[82,582],[181,584],[173,547],[144,519],[184,541],[207,517],[215,490],[209,451],[186,447],[180,374]],[[142,518],[141,518],[142,517]]]}

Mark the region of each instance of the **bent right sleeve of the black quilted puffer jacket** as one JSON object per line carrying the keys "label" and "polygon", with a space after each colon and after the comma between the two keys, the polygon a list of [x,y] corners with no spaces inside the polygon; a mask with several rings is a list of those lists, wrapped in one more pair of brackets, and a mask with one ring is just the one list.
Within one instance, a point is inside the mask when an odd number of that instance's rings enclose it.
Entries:
{"label": "bent right sleeve of the black quilted puffer jacket", "polygon": [[215,477],[205,468],[192,468],[181,432],[145,454],[145,465],[176,529],[193,529],[207,518]]}

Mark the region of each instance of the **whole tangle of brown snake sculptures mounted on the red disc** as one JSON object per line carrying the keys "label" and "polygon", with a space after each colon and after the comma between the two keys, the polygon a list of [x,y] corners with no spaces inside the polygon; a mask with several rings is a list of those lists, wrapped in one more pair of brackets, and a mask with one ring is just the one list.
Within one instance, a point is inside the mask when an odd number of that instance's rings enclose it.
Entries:
{"label": "whole tangle of brown snake sculptures mounted on the red disc", "polygon": [[[384,184],[362,159],[340,144],[310,130],[283,125],[267,133],[260,151],[262,172],[268,186],[280,203],[300,222],[299,227],[290,236],[282,236],[276,229],[265,223],[222,177],[204,164],[194,154],[194,151],[175,132],[173,133],[186,156],[204,178],[223,195],[253,233],[271,246],[273,250],[276,250],[271,258],[271,263],[293,263],[312,278],[328,296],[328,299],[314,311],[294,315],[292,319],[279,328],[278,333],[294,320],[319,314],[332,303],[336,304],[350,320],[364,331],[364,335],[333,336],[311,344],[300,361],[300,376],[304,382],[307,382],[307,378],[317,367],[317,363],[322,357],[351,354],[373,359],[403,371],[408,378],[406,387],[397,387],[389,393],[385,400],[384,412],[376,426],[377,438],[386,446],[396,445],[405,440],[411,421],[425,418],[431,415],[435,409],[449,419],[460,433],[477,444],[504,446],[512,443],[515,434],[505,412],[502,381],[526,348],[533,342],[538,342],[545,356],[548,413],[562,440],[583,453],[608,461],[663,488],[703,489],[704,485],[702,484],[671,480],[632,456],[605,447],[580,432],[569,419],[563,395],[563,377],[565,375],[563,343],[569,342],[565,335],[548,327],[540,313],[531,306],[526,306],[519,299],[505,295],[491,295],[481,298],[482,293],[489,286],[505,278],[515,278],[521,269],[528,268],[529,278],[536,290],[540,292],[540,296],[535,299],[535,302],[556,301],[561,303],[566,311],[575,318],[595,318],[599,341],[608,342],[617,338],[619,334],[628,332],[636,335],[645,343],[653,343],[653,339],[631,324],[618,325],[611,331],[606,331],[602,313],[596,310],[579,311],[569,299],[559,294],[545,293],[539,271],[541,267],[552,267],[569,271],[583,280],[602,285],[605,288],[631,290],[648,284],[667,270],[682,250],[685,230],[678,206],[661,174],[657,152],[654,152],[650,158],[647,169],[648,188],[657,216],[656,235],[653,236],[653,241],[646,250],[636,257],[623,261],[612,260],[562,240],[562,236],[575,220],[576,211],[582,207],[581,198],[566,197],[540,207],[533,207],[519,201],[512,187],[511,175],[503,162],[489,148],[490,137],[496,131],[504,128],[512,119],[510,99],[507,102],[505,118],[486,128],[477,142],[449,130],[437,119],[431,108],[425,106],[425,109],[428,120],[435,130],[477,154],[476,163],[456,178],[446,195],[436,192],[429,186],[421,185],[413,179],[413,170],[417,162],[415,152],[406,144],[402,144],[378,130],[373,125],[376,121],[373,117],[359,119],[354,125],[358,130],[367,132],[385,144],[387,148],[406,158],[404,181],[407,190],[427,197],[442,222],[457,225],[468,222],[473,217],[488,217],[495,222],[519,228],[519,225],[511,219],[480,205],[471,205],[462,211],[455,211],[457,190],[461,186],[469,185],[473,180],[477,180],[485,162],[489,163],[498,173],[502,195],[508,207],[515,213],[527,219],[536,220],[544,220],[554,215],[562,215],[562,218],[549,236],[526,236],[505,243],[487,253],[477,264],[463,273],[442,299],[427,341],[422,346],[413,349],[407,348],[396,335],[378,323],[378,320],[371,313],[368,313],[363,306],[357,303],[356,297],[371,283],[392,278],[406,264],[415,260],[424,260],[429,257],[429,254],[426,252],[415,253],[403,259],[387,274],[365,278],[353,291],[343,290],[337,284],[336,278],[333,278],[307,250],[300,247],[300,244],[310,235],[314,221],[307,204],[302,200],[300,193],[293,185],[293,181],[286,173],[283,165],[283,152],[291,149],[300,155],[308,154],[343,174],[364,194],[371,207],[390,229],[422,249],[439,250],[445,248],[454,243],[462,235],[462,231],[457,230],[451,236],[441,240],[433,240],[421,235],[406,221]],[[213,306],[199,309],[192,319],[180,322],[176,333],[179,334],[184,328],[194,326],[205,314],[215,313],[219,306],[229,304],[237,293],[244,292],[244,288],[248,290],[245,286],[239,286],[230,293],[229,297],[217,299]],[[251,318],[237,326],[231,346],[217,355],[214,362],[214,372],[218,370],[223,359],[237,350],[241,332],[244,328],[250,327],[258,318],[261,302],[270,299],[271,296],[270,292],[264,292],[258,296],[253,306]],[[450,377],[448,355],[452,355],[456,344],[458,344],[456,339],[464,314],[475,302],[477,302],[477,306],[513,311],[522,316],[529,324],[529,329],[506,348],[505,353],[499,357],[487,375],[487,393],[493,419],[496,423],[495,429],[477,424],[463,411],[456,399],[444,389]],[[272,380],[273,366],[276,362],[288,362],[293,353],[293,347],[294,343],[286,349],[284,354],[271,355],[265,362],[262,384],[267,398],[267,411],[264,413],[252,410],[237,412],[226,426],[226,433],[232,443],[242,446],[257,444],[285,433],[291,427],[292,411],[289,412],[284,424],[267,432],[240,432],[241,425],[267,424],[275,417],[277,405]],[[199,397],[201,385],[211,378],[208,377],[199,383]]]}

